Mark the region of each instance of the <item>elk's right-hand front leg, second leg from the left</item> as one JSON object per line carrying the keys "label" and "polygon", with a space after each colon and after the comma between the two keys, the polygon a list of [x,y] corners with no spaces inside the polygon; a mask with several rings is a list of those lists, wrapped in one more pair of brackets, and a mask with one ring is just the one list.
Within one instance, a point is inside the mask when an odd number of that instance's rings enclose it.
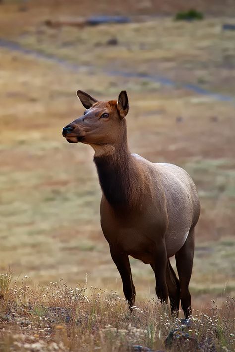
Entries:
{"label": "elk's right-hand front leg, second leg from the left", "polygon": [[161,303],[167,303],[168,288],[166,283],[167,251],[165,243],[158,244],[154,253],[155,259],[152,266],[156,279],[156,294]]}

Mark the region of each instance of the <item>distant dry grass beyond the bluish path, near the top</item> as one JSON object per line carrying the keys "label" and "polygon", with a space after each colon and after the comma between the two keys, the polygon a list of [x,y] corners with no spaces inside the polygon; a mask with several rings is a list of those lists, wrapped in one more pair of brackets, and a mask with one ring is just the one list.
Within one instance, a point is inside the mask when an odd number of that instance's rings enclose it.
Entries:
{"label": "distant dry grass beyond the bluish path, near the top", "polygon": [[[234,6],[230,7],[232,11]],[[83,8],[70,8],[70,16],[80,16],[84,13]],[[50,5],[37,11],[31,6],[26,13],[12,14],[11,10],[8,23],[5,23],[3,11],[0,29],[5,37],[24,47],[78,65],[95,66],[96,71],[159,74],[175,80],[179,87],[182,83],[190,83],[214,92],[235,94],[234,31],[222,30],[223,23],[233,23],[231,18],[177,22],[171,17],[158,16],[150,17],[147,22],[136,22],[139,17],[133,17],[133,23],[121,26],[85,26],[82,29],[47,28],[44,25],[47,18],[65,16],[67,12],[64,11],[63,6],[53,10]],[[17,32],[13,25],[16,14],[20,23]],[[116,38],[118,44],[107,45],[111,38]]]}

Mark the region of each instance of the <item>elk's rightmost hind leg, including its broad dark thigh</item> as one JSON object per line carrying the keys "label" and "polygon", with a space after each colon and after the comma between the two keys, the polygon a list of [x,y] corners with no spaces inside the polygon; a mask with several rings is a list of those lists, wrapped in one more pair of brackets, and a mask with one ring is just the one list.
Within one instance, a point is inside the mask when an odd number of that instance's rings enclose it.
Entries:
{"label": "elk's rightmost hind leg, including its broad dark thigh", "polygon": [[175,255],[180,282],[180,300],[185,318],[192,314],[191,295],[188,286],[192,275],[193,256],[194,228],[191,228],[183,247]]}

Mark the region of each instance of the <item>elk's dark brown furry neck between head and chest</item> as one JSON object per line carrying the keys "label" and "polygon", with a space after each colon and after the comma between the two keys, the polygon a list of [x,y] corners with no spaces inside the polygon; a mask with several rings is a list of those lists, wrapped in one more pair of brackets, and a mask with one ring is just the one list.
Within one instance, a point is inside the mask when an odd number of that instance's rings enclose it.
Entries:
{"label": "elk's dark brown furry neck between head and chest", "polygon": [[138,194],[138,179],[128,149],[126,130],[114,153],[94,157],[94,162],[102,191],[110,205],[132,207]]}

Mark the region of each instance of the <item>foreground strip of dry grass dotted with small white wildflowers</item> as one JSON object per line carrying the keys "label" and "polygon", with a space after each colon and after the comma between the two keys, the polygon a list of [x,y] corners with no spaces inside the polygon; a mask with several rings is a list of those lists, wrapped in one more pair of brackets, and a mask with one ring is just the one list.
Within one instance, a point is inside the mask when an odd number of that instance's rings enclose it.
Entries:
{"label": "foreground strip of dry grass dotted with small white wildflowers", "polygon": [[[34,289],[25,276],[0,300],[0,351],[235,351],[234,300],[211,302],[189,321],[168,316],[153,300],[138,302],[130,313],[116,292],[63,281]],[[171,334],[169,335],[169,332]],[[166,337],[168,336],[167,340]],[[167,345],[166,345],[167,341]]]}

